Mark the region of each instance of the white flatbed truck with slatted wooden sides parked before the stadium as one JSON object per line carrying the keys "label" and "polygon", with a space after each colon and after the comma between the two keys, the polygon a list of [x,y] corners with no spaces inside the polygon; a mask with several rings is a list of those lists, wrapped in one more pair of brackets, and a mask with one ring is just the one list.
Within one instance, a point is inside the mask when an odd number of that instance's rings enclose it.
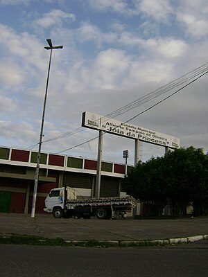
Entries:
{"label": "white flatbed truck with slatted wooden sides parked before the stadium", "polygon": [[77,198],[77,191],[69,186],[53,188],[45,199],[44,211],[53,213],[55,218],[90,218],[93,215],[100,220],[126,215],[136,206],[133,197]]}

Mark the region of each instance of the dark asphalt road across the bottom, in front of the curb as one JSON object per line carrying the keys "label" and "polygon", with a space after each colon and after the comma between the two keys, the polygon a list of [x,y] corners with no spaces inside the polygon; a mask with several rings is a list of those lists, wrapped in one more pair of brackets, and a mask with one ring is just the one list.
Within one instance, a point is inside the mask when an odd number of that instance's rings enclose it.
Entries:
{"label": "dark asphalt road across the bottom, in front of the curb", "polygon": [[3,277],[207,277],[208,241],[190,247],[73,248],[0,244]]}

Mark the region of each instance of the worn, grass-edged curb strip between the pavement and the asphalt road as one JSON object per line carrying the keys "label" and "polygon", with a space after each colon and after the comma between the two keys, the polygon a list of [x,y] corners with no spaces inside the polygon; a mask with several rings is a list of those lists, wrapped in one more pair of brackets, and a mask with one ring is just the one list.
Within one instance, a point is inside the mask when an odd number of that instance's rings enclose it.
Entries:
{"label": "worn, grass-edged curb strip between the pavement and the asphalt road", "polygon": [[[193,235],[184,238],[169,238],[160,240],[62,240],[35,238],[24,235],[0,235],[0,243],[11,244],[41,244],[41,245],[62,245],[68,247],[158,247],[208,240],[208,235]],[[22,239],[23,241],[19,240]],[[21,242],[20,242],[21,241]],[[33,242],[33,243],[31,243]],[[51,243],[50,243],[51,242]],[[53,244],[55,242],[55,244]]]}

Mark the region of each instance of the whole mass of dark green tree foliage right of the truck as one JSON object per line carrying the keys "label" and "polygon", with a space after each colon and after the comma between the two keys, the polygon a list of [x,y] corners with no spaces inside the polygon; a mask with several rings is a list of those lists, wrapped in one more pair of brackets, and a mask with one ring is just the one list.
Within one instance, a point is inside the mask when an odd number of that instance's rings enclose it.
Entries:
{"label": "whole mass of dark green tree foliage right of the truck", "polygon": [[191,204],[195,215],[204,215],[208,209],[208,156],[191,146],[139,161],[125,176],[123,187],[147,207],[155,204],[159,215],[167,202],[173,214],[186,215]]}

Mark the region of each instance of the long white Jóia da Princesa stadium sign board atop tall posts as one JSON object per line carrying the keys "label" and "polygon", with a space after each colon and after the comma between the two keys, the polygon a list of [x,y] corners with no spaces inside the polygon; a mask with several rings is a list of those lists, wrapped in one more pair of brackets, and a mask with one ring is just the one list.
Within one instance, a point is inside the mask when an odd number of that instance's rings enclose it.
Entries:
{"label": "long white J\u00f3ia da Princesa stadium sign board atop tall posts", "polygon": [[104,132],[118,136],[125,136],[129,139],[139,139],[139,141],[162,145],[168,148],[180,148],[180,139],[175,136],[169,136],[168,134],[162,134],[129,123],[123,123],[99,114],[92,114],[89,111],[83,112],[82,126],[103,130]]}

